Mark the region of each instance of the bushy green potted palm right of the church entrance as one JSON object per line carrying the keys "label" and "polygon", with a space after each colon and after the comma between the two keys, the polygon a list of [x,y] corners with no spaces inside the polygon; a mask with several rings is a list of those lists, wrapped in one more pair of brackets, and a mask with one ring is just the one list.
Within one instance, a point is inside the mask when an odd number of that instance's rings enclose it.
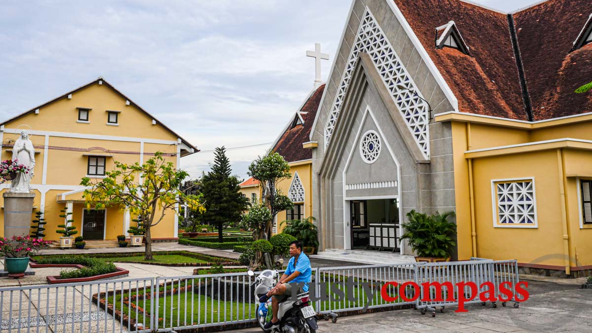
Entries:
{"label": "bushy green potted palm right of the church entrance", "polygon": [[407,222],[403,223],[405,232],[401,239],[407,239],[408,244],[416,252],[417,262],[449,261],[456,246],[456,223],[449,222],[448,217],[454,212],[435,213],[427,215],[415,210],[407,213]]}

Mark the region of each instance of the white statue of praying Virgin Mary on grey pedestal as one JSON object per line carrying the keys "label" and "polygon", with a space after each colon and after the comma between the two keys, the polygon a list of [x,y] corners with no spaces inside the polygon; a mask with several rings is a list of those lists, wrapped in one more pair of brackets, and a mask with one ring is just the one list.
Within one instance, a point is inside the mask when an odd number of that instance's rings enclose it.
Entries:
{"label": "white statue of praying Virgin Mary on grey pedestal", "polygon": [[17,177],[11,182],[10,191],[28,193],[35,168],[35,149],[33,148],[33,142],[29,140],[29,134],[26,130],[21,131],[21,136],[12,148],[12,161],[15,160],[18,161],[18,164],[28,167],[29,172],[17,172]]}

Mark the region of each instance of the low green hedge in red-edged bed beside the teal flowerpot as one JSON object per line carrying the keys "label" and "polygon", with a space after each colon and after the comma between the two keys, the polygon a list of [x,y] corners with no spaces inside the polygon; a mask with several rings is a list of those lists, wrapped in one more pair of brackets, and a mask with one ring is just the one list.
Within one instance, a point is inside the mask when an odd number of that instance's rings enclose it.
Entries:
{"label": "low green hedge in red-edged bed beside the teal flowerpot", "polygon": [[96,258],[79,257],[72,255],[69,257],[44,257],[37,260],[37,264],[78,264],[85,267],[78,270],[61,271],[60,278],[80,278],[97,276],[101,274],[113,273],[117,267],[112,262],[104,262]]}

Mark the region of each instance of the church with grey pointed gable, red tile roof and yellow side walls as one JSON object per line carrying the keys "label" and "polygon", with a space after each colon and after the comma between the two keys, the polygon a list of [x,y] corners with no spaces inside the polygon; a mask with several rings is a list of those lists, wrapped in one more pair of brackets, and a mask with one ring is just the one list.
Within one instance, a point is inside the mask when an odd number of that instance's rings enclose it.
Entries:
{"label": "church with grey pointed gable, red tile roof and yellow side walls", "polygon": [[412,255],[406,213],[453,211],[454,259],[591,274],[591,42],[585,0],[354,0],[303,140],[321,250]]}

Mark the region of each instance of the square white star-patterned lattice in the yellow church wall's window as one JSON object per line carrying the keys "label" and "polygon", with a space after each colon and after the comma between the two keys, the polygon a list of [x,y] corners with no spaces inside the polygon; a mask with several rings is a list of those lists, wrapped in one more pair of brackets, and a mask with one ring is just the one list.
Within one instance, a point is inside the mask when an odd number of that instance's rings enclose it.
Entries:
{"label": "square white star-patterned lattice in the yellow church wall's window", "polygon": [[496,184],[498,225],[536,226],[533,181]]}

